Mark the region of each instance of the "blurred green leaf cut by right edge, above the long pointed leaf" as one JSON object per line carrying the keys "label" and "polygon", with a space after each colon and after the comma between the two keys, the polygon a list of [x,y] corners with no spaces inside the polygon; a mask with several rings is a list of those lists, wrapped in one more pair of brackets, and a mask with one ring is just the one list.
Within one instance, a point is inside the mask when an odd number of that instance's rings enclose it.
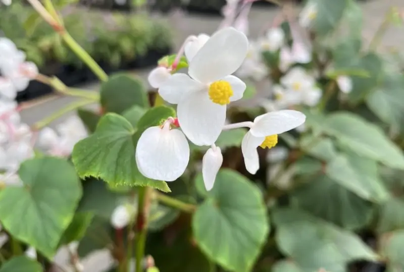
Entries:
{"label": "blurred green leaf cut by right edge, above the long pointed leaf", "polygon": [[404,130],[402,86],[404,86],[404,77],[401,74],[387,73],[381,86],[366,98],[367,105],[377,117],[400,131]]}

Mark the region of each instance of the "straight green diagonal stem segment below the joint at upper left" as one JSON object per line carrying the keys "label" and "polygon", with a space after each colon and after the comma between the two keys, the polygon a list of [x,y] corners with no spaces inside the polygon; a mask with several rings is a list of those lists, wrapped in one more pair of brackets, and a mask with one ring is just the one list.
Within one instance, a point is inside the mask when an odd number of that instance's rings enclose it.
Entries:
{"label": "straight green diagonal stem segment below the joint at upper left", "polygon": [[66,44],[72,49],[72,51],[79,57],[91,71],[99,78],[101,81],[107,81],[108,75],[104,72],[101,67],[94,61],[93,58],[73,39],[68,32],[60,33]]}

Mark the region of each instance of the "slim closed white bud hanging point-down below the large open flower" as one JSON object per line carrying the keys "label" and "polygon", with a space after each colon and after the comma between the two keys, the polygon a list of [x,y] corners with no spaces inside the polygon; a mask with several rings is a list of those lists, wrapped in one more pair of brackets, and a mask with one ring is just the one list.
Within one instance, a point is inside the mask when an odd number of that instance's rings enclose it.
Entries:
{"label": "slim closed white bud hanging point-down below the large open flower", "polygon": [[214,146],[206,151],[202,159],[202,176],[207,191],[212,190],[216,175],[223,163],[223,155],[220,147]]}

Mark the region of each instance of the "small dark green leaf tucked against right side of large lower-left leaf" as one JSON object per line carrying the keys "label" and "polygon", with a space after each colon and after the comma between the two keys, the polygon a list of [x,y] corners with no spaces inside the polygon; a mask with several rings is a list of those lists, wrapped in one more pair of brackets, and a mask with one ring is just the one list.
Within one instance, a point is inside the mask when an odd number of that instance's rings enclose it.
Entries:
{"label": "small dark green leaf tucked against right side of large lower-left leaf", "polygon": [[61,245],[67,245],[73,241],[80,241],[83,238],[88,226],[90,226],[94,214],[89,212],[77,212],[72,222],[66,229],[61,239]]}

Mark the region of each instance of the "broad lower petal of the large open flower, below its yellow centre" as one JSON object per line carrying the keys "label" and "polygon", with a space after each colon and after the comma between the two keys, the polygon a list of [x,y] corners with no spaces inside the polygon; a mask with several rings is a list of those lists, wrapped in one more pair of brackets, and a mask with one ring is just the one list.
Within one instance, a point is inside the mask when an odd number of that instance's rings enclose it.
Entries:
{"label": "broad lower petal of the large open flower, below its yellow centre", "polygon": [[226,105],[209,99],[206,92],[195,92],[178,103],[177,116],[186,137],[196,145],[211,145],[226,120]]}

